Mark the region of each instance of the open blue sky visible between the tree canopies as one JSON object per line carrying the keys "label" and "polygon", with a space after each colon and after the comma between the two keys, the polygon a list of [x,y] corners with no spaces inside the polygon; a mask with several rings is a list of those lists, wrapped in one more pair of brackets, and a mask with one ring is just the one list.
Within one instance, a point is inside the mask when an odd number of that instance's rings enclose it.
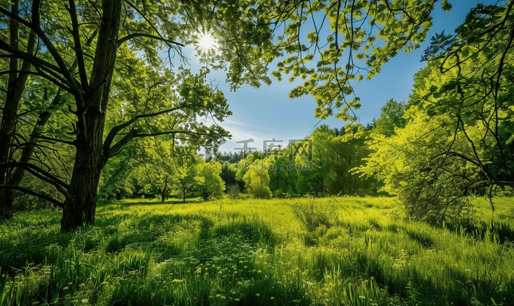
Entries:
{"label": "open blue sky visible between the tree canopies", "polygon": [[[496,1],[450,1],[453,8],[450,12],[443,12],[441,5],[436,3],[432,12],[434,25],[430,29],[428,38],[443,29],[446,34],[453,33],[454,29],[465,20],[467,12],[478,3],[494,4]],[[399,53],[382,66],[380,74],[370,81],[361,81],[355,87],[356,95],[360,97],[362,107],[356,111],[360,123],[366,125],[373,118],[380,117],[380,109],[393,98],[396,101],[408,101],[413,86],[413,76],[423,68],[426,63],[420,62],[421,55],[428,42],[421,44],[421,48],[409,53]],[[185,55],[190,58],[191,68],[197,68],[197,59],[193,47],[184,49]],[[271,67],[270,70],[273,70]],[[289,99],[289,92],[299,84],[299,81],[291,84],[289,77],[283,77],[277,81],[271,77],[271,86],[263,85],[260,88],[252,88],[243,85],[236,92],[230,91],[230,86],[225,84],[225,76],[221,72],[212,73],[211,81],[219,86],[228,99],[232,116],[220,123],[222,127],[230,131],[232,139],[223,144],[219,151],[232,151],[242,144],[236,141],[253,138],[255,142],[249,146],[263,149],[263,141],[283,140],[287,144],[289,140],[302,139],[312,133],[317,125],[326,124],[330,127],[343,127],[346,123],[336,118],[320,120],[315,118],[314,111],[316,101],[311,96],[297,99]]]}

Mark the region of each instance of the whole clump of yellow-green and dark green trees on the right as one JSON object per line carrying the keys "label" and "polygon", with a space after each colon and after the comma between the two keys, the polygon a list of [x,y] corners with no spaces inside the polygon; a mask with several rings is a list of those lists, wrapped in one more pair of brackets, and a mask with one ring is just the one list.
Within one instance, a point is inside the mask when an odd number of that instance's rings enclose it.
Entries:
{"label": "whole clump of yellow-green and dark green trees on the right", "polygon": [[432,38],[406,105],[408,124],[372,144],[365,172],[383,179],[415,218],[456,220],[473,194],[488,194],[494,210],[493,188],[514,186],[513,4],[478,5],[456,37]]}

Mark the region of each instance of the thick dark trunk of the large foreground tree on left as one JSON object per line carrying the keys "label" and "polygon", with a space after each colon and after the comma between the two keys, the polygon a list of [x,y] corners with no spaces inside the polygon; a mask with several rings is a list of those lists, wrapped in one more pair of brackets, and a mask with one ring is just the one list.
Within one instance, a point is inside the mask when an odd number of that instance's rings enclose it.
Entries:
{"label": "thick dark trunk of the large foreground tree on left", "polygon": [[[61,230],[75,231],[95,222],[100,174],[108,160],[103,151],[103,129],[109,101],[110,84],[118,49],[121,0],[103,0],[103,16],[98,32],[95,60],[89,86],[75,94],[77,101],[77,151],[64,201]],[[79,69],[85,69],[79,66]],[[82,80],[84,88],[84,80]]]}

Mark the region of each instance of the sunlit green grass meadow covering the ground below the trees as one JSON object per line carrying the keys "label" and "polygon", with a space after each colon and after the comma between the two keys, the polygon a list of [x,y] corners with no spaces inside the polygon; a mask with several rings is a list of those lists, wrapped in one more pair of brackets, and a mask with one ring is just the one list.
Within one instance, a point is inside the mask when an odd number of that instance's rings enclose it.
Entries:
{"label": "sunlit green grass meadow covering the ground below the trees", "polygon": [[394,198],[123,201],[79,233],[22,212],[0,305],[514,305],[514,199],[474,204],[437,228]]}

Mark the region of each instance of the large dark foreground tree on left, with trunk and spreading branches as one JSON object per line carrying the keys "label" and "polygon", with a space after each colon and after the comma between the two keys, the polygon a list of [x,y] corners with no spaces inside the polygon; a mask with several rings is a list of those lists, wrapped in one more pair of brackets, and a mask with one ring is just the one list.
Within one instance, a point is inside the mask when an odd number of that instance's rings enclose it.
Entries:
{"label": "large dark foreground tree on left, with trunk and spreading branches", "polygon": [[[49,79],[62,90],[69,92],[73,96],[73,105],[70,104],[69,112],[75,115],[77,120],[73,127],[75,140],[60,140],[76,149],[73,174],[69,183],[60,181],[51,173],[43,173],[39,168],[34,172],[51,181],[53,186],[64,195],[64,203],[60,205],[63,209],[61,222],[63,230],[72,230],[84,224],[91,224],[95,217],[101,169],[108,158],[118,153],[119,149],[132,138],[162,132],[183,132],[169,129],[138,131],[134,128],[136,121],[178,109],[193,108],[198,111],[203,105],[195,101],[194,104],[173,105],[168,109],[143,109],[143,113],[133,114],[132,118],[127,118],[124,123],[112,127],[110,132],[104,135],[106,116],[112,111],[109,98],[114,70],[117,67],[130,66],[126,62],[121,63],[118,55],[125,52],[123,50],[126,50],[126,43],[130,42],[133,50],[143,51],[147,64],[153,65],[156,68],[155,71],[162,71],[158,67],[160,60],[156,57],[158,44],[160,47],[168,47],[171,53],[173,51],[180,53],[179,47],[182,44],[175,42],[175,38],[192,41],[191,33],[197,30],[201,20],[216,12],[223,15],[225,8],[234,3],[221,3],[221,10],[212,5],[193,5],[193,3],[175,5],[175,3],[132,3],[122,0],[101,1],[101,3],[98,1],[75,3],[71,0],[66,5],[38,0],[19,11],[8,10],[7,5],[3,3],[0,8],[0,12],[5,16],[4,20],[18,22],[26,32],[34,32],[36,40],[44,45],[45,51],[29,53],[5,41],[5,38],[0,40],[0,49],[9,57],[26,60],[34,67],[36,71],[34,75]],[[176,21],[176,17],[179,19],[182,17],[182,20]],[[234,25],[234,28],[239,29],[241,24],[249,23],[243,19],[230,18],[225,25]],[[48,31],[47,25],[51,25]],[[88,46],[86,42],[93,36],[95,38]],[[239,52],[239,56],[233,57],[233,62],[236,62],[236,58],[245,58],[247,55],[245,48],[249,50],[249,45],[245,47],[245,41],[237,37],[231,43],[232,48],[238,48]],[[252,50],[254,49],[252,47]],[[72,65],[75,60],[77,61],[76,70]],[[247,69],[252,70],[252,64],[247,64],[244,68],[234,68],[232,73],[236,77]],[[77,71],[76,74],[75,71]],[[17,69],[16,73],[19,73]],[[241,76],[238,77],[238,82],[259,79],[259,75],[262,73],[252,73],[251,77]],[[12,116],[15,114],[6,112],[3,114],[3,118]],[[223,133],[219,133],[219,129],[202,129],[203,131],[197,131],[197,133],[202,133],[208,138],[223,136]],[[124,136],[120,137],[122,133]],[[3,162],[2,169],[20,166]],[[23,166],[35,169],[35,166],[29,163],[23,163]],[[14,187],[3,185],[3,189],[5,188]]]}

